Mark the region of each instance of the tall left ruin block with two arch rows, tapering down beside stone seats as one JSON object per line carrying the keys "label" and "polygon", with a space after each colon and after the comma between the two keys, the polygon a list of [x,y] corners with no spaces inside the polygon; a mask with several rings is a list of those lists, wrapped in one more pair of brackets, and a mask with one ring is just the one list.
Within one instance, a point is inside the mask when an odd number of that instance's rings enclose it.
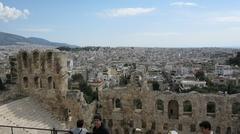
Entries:
{"label": "tall left ruin block with two arch rows, tapering down beside stone seats", "polygon": [[44,107],[64,118],[67,92],[67,55],[53,51],[20,51],[17,85],[23,94],[37,98]]}

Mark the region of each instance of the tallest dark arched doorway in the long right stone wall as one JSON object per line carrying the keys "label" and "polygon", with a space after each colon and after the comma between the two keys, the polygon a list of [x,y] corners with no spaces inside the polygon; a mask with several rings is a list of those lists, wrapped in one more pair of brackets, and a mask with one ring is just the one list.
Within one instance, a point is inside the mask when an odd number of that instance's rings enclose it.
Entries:
{"label": "tallest dark arched doorway in the long right stone wall", "polygon": [[176,100],[170,100],[168,103],[168,118],[178,119],[179,115],[179,105]]}

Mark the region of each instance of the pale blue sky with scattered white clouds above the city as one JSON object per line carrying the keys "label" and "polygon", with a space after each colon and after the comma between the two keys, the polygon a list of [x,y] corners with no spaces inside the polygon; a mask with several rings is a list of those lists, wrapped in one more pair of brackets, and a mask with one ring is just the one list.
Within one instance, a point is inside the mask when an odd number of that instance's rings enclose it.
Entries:
{"label": "pale blue sky with scattered white clouds above the city", "polygon": [[0,31],[80,46],[240,47],[240,0],[0,0]]}

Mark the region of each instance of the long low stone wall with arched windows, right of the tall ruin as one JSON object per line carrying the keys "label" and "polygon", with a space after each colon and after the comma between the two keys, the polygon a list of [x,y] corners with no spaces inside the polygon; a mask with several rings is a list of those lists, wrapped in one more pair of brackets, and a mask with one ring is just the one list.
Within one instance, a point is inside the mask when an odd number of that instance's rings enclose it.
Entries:
{"label": "long low stone wall with arched windows, right of the tall ruin", "polygon": [[[228,127],[233,134],[240,133],[240,112],[232,114],[232,104],[240,102],[240,94],[176,94],[128,88],[107,90],[100,95],[100,111],[113,134],[132,133],[134,128],[154,134],[164,134],[173,129],[180,134],[199,133],[199,123],[203,120],[208,120],[214,131],[220,127],[221,134],[225,134]],[[116,108],[116,99],[120,99],[120,108]],[[142,109],[135,108],[135,99],[141,100]],[[163,102],[163,110],[157,109],[158,99]],[[184,112],[183,103],[187,100],[191,103],[192,112]],[[213,113],[207,112],[209,102],[215,104]]]}

